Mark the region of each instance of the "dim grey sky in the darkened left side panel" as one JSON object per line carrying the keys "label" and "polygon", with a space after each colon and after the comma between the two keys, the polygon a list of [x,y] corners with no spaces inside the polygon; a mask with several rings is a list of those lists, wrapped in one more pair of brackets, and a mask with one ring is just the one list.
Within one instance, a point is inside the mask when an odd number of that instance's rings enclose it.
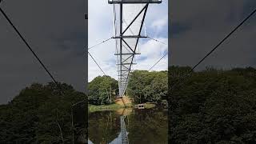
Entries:
{"label": "dim grey sky in the darkened left side panel", "polygon": [[[5,0],[0,6],[54,78],[84,92],[87,82],[86,1]],[[0,104],[10,102],[33,82],[52,82],[2,14],[0,67]]]}

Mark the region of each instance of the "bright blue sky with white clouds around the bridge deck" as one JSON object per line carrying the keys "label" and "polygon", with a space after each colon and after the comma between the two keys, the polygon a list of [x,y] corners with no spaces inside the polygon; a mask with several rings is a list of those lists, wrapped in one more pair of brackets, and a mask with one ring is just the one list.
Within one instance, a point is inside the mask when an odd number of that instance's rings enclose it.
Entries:
{"label": "bright blue sky with white clouds around the bridge deck", "polygon": [[[107,0],[88,1],[88,45],[94,46],[103,40],[114,36],[113,28],[113,5],[108,4]],[[162,4],[150,4],[145,19],[146,34],[161,42],[155,42],[149,38],[142,39],[138,43],[141,53],[136,56],[134,68],[132,70],[149,70],[168,51],[168,1],[163,0]],[[145,34],[145,29],[142,30]],[[106,75],[118,78],[118,68],[116,66],[115,41],[110,39],[102,45],[89,50],[90,54],[102,67]],[[168,56],[162,59],[152,70],[167,70]],[[92,58],[88,58],[88,80],[103,75],[102,71],[94,63]]]}

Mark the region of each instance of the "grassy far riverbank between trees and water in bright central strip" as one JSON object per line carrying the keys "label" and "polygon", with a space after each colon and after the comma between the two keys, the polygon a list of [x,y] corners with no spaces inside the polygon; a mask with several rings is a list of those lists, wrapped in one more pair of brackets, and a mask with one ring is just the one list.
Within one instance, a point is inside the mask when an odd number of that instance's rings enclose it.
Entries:
{"label": "grassy far riverbank between trees and water in bright central strip", "polygon": [[[144,107],[145,109],[152,109],[154,108],[156,105],[153,103],[145,103]],[[89,112],[93,113],[96,111],[114,111],[114,110],[119,110],[119,109],[123,109],[123,108],[134,108],[134,105],[129,104],[126,106],[122,106],[122,105],[118,105],[116,103],[114,104],[110,104],[110,105],[100,105],[100,106],[95,106],[95,105],[89,105]]]}

